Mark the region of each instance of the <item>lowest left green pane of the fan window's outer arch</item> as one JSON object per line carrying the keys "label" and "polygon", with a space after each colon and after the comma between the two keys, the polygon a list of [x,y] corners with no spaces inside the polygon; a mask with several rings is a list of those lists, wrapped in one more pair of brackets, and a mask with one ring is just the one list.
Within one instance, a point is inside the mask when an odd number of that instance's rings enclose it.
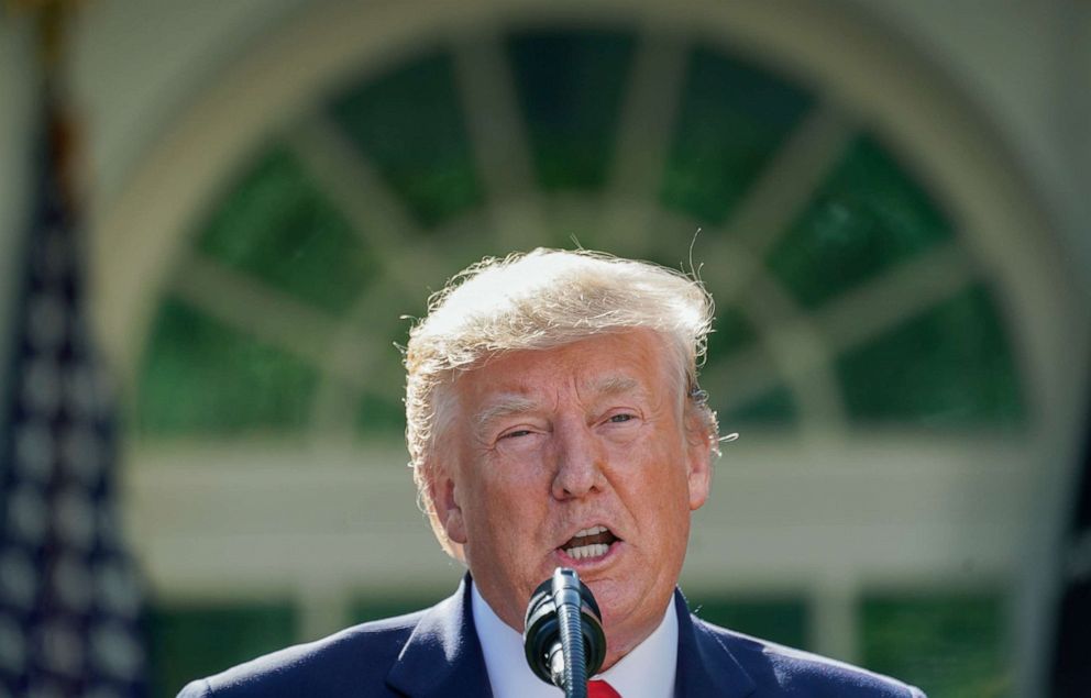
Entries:
{"label": "lowest left green pane of the fan window's outer arch", "polygon": [[172,299],[159,307],[140,375],[135,421],[158,436],[299,430],[318,380],[294,356]]}

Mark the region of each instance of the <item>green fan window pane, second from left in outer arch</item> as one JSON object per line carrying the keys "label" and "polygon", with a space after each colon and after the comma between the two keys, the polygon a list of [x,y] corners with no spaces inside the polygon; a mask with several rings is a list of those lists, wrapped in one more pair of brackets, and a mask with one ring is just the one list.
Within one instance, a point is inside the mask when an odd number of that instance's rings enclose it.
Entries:
{"label": "green fan window pane, second from left in outer arch", "polygon": [[197,247],[333,313],[348,309],[377,268],[297,158],[275,146],[229,190]]}

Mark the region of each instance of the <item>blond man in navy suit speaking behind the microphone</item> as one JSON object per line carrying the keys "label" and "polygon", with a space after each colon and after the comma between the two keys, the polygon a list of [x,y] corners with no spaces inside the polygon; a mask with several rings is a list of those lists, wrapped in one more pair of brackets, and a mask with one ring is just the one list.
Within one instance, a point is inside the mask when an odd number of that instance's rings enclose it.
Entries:
{"label": "blond man in navy suit speaking behind the microphone", "polygon": [[592,696],[922,697],[891,678],[690,614],[676,588],[708,497],[716,417],[697,387],[712,299],[686,276],[538,250],[454,277],[411,331],[406,437],[454,596],[194,682],[181,698],[554,698],[524,619],[556,567],[597,599]]}

